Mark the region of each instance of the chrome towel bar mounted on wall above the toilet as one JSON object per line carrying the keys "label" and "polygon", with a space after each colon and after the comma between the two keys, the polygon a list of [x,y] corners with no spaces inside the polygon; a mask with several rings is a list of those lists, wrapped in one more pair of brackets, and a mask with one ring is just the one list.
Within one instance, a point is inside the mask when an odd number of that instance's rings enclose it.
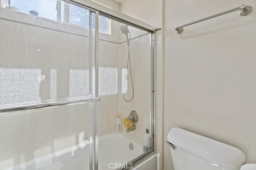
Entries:
{"label": "chrome towel bar mounted on wall above the toilet", "polygon": [[247,15],[249,15],[252,12],[252,7],[251,6],[246,6],[246,5],[241,5],[238,8],[234,8],[232,10],[228,10],[228,11],[225,11],[225,12],[213,15],[213,16],[209,16],[209,17],[203,18],[201,20],[190,22],[190,23],[187,23],[187,24],[175,27],[174,29],[177,31],[178,34],[181,34],[183,32],[183,27],[186,27],[188,25],[192,25],[194,23],[202,22],[202,21],[205,21],[205,20],[209,20],[211,18],[215,18],[215,17],[218,17],[218,16],[222,16],[224,14],[228,14],[230,12],[234,12],[234,11],[237,11],[237,10],[239,10],[239,15],[240,16],[247,16]]}

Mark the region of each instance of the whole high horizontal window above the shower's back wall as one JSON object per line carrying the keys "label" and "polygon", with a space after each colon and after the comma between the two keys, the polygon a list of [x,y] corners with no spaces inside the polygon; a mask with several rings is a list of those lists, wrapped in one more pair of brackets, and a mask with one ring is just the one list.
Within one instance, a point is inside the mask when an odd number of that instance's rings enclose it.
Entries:
{"label": "whole high horizontal window above the shower's back wall", "polygon": [[[38,17],[54,21],[89,27],[89,10],[69,4],[62,0],[2,0],[5,6],[13,6],[27,14],[38,14]],[[34,11],[34,13],[33,13]],[[95,17],[95,14],[92,16]],[[99,31],[110,34],[110,19],[99,17]],[[93,20],[92,29],[95,29]]]}

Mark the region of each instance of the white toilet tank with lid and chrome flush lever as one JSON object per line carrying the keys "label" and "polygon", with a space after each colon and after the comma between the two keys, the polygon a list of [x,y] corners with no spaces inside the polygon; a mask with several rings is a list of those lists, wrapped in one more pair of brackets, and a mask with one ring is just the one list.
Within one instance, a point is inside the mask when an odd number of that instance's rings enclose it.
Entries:
{"label": "white toilet tank with lid and chrome flush lever", "polygon": [[230,145],[174,127],[167,135],[174,170],[240,170],[244,153]]}

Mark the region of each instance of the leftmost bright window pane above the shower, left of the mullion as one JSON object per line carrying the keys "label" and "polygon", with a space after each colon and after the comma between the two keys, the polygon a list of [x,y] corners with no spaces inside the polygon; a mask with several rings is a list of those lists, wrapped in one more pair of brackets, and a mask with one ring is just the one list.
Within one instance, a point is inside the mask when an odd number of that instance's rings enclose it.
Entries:
{"label": "leftmost bright window pane above the shower, left of the mullion", "polygon": [[57,0],[11,0],[10,6],[14,6],[29,14],[30,11],[38,12],[38,16],[50,20],[57,20]]}

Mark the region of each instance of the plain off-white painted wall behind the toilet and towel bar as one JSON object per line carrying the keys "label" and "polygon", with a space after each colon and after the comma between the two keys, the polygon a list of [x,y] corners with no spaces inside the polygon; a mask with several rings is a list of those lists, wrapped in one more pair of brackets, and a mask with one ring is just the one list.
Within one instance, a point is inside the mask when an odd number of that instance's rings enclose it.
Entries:
{"label": "plain off-white painted wall behind the toilet and towel bar", "polygon": [[[232,12],[174,27],[242,4],[249,16]],[[256,163],[256,2],[254,0],[164,1],[164,137],[172,127],[241,149]],[[164,145],[164,169],[172,170]]]}

